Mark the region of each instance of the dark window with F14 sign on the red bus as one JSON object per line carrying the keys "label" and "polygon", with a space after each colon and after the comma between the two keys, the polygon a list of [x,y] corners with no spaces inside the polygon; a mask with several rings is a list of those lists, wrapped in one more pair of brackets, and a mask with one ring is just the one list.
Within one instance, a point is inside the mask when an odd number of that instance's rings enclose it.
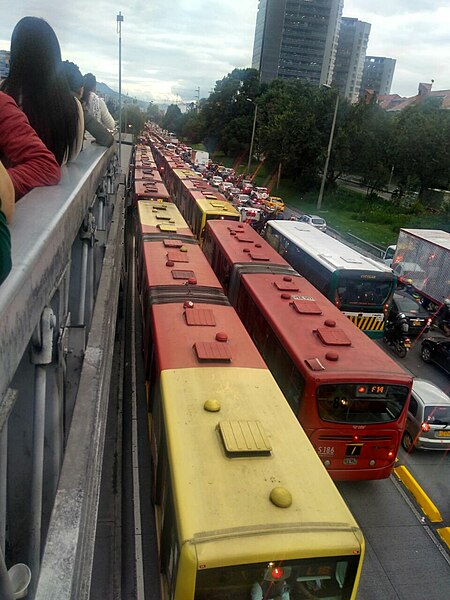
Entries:
{"label": "dark window with F14 sign on the red bus", "polygon": [[403,385],[340,383],[317,390],[319,416],[323,421],[371,425],[396,421],[408,398]]}

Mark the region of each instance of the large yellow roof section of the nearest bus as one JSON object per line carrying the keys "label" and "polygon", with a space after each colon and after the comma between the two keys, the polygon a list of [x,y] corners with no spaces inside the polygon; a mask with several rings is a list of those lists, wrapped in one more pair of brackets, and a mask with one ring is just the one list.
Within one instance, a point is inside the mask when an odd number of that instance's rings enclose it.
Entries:
{"label": "large yellow roof section of the nearest bus", "polygon": [[[195,544],[199,564],[362,550],[356,521],[269,371],[163,371],[161,387],[179,541]],[[220,411],[206,411],[208,400]],[[271,502],[276,487],[291,506]]]}

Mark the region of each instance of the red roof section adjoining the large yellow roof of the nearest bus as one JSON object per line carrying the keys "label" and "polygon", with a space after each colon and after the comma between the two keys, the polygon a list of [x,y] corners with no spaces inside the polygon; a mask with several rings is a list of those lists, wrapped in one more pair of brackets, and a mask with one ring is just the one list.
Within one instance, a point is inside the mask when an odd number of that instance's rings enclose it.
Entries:
{"label": "red roof section adjoining the large yellow roof of the nearest bus", "polygon": [[231,306],[154,304],[152,334],[161,371],[218,366],[267,370]]}

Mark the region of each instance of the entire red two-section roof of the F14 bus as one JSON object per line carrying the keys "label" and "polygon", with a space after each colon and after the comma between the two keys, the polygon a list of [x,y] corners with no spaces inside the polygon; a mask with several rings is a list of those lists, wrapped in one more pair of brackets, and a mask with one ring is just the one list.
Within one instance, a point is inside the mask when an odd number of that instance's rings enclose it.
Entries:
{"label": "entire red two-section roof of the F14 bus", "polygon": [[299,368],[319,380],[343,377],[411,381],[377,344],[356,327],[307,279],[270,272],[288,263],[247,223],[209,221],[229,264],[267,264],[267,272],[243,273],[245,285],[283,346]]}

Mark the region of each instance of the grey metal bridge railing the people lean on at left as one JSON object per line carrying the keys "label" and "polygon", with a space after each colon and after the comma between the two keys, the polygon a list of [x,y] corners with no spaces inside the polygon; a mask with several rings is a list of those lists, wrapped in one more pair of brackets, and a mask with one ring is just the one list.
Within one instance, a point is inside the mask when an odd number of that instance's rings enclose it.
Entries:
{"label": "grey metal bridge railing the people lean on at left", "polygon": [[58,186],[22,198],[11,225],[13,268],[0,286],[0,555],[30,567],[29,598],[88,597],[80,586],[94,549],[123,247],[118,175],[115,148],[92,145]]}

